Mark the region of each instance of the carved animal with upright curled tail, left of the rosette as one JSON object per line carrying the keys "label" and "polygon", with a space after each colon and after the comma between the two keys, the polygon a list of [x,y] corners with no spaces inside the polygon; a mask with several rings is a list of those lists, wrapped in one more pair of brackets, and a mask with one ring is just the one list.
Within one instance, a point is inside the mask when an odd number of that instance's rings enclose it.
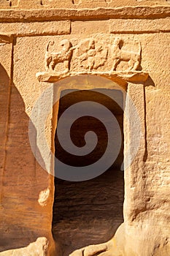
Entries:
{"label": "carved animal with upright curled tail, left of the rosette", "polygon": [[54,70],[58,63],[63,63],[65,72],[69,72],[69,65],[72,59],[72,52],[75,47],[72,47],[72,43],[68,39],[63,39],[61,41],[62,50],[58,53],[50,53],[49,46],[54,45],[54,41],[50,41],[47,44],[45,53],[45,69],[46,71]]}

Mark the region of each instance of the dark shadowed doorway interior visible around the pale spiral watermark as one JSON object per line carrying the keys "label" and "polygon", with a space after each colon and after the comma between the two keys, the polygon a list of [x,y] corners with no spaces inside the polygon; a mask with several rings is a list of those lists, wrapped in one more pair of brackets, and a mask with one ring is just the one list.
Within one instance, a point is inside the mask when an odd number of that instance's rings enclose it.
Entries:
{"label": "dark shadowed doorway interior visible around the pale spiral watermark", "polygon": [[[120,126],[122,143],[116,161],[100,176],[79,182],[55,178],[53,237],[61,244],[63,255],[69,255],[82,246],[108,241],[123,222],[124,178],[123,170],[120,170],[123,163],[123,93],[109,89],[62,91],[58,120],[67,108],[83,101],[98,102],[112,112]],[[108,140],[107,130],[101,121],[92,116],[78,118],[72,124],[70,135],[72,142],[82,147],[85,146],[85,133],[90,130],[98,136],[98,143],[85,156],[74,156],[64,151],[55,132],[55,157],[67,165],[77,167],[98,161],[107,148]],[[118,138],[114,140],[113,151]],[[57,172],[58,167],[55,165],[56,176]]]}

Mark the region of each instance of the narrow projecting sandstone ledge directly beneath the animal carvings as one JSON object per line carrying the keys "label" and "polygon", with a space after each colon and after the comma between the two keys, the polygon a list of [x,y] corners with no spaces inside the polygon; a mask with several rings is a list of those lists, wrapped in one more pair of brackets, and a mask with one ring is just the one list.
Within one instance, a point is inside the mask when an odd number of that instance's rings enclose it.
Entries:
{"label": "narrow projecting sandstone ledge directly beneath the animal carvings", "polygon": [[68,78],[69,76],[74,75],[101,75],[106,76],[107,78],[119,78],[125,82],[134,82],[134,83],[144,83],[148,78],[147,72],[142,71],[115,71],[115,72],[38,72],[36,73],[36,78],[39,82],[48,82],[55,83],[62,78]]}

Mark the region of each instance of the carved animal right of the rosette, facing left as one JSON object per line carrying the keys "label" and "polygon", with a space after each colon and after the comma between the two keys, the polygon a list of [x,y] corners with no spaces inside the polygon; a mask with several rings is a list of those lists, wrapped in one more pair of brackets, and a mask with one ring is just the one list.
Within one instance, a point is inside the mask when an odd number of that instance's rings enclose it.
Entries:
{"label": "carved animal right of the rosette, facing left", "polygon": [[120,64],[120,61],[128,62],[128,70],[136,70],[141,61],[141,45],[138,44],[138,52],[123,50],[123,39],[116,38],[114,44],[111,47],[112,55],[112,71],[116,70],[117,65]]}

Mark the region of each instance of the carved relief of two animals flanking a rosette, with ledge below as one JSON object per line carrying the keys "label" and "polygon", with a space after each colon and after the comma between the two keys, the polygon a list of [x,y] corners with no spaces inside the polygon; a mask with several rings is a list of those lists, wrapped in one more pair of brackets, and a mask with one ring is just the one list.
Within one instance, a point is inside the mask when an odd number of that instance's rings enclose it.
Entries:
{"label": "carved relief of two animals flanking a rosette, with ledge below", "polygon": [[[56,50],[57,49],[57,50]],[[136,39],[95,37],[76,40],[50,40],[45,50],[45,72],[40,81],[53,82],[69,75],[110,75],[130,81],[147,79],[142,72],[142,47]]]}

